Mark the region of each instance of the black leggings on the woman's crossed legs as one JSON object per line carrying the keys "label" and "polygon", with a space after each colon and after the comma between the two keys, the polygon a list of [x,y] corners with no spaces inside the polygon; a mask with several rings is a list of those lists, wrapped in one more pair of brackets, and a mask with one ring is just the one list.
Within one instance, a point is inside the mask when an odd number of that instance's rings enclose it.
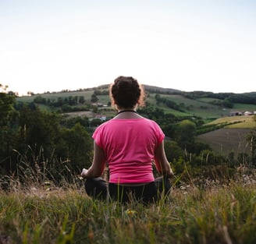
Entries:
{"label": "black leggings on the woman's crossed legs", "polygon": [[171,183],[169,179],[158,177],[154,182],[146,183],[143,186],[120,186],[115,183],[107,183],[101,177],[87,179],[85,190],[88,196],[93,199],[106,200],[109,194],[110,200],[116,200],[120,203],[128,203],[132,200],[138,200],[142,203],[152,203],[158,200],[162,194],[169,194]]}

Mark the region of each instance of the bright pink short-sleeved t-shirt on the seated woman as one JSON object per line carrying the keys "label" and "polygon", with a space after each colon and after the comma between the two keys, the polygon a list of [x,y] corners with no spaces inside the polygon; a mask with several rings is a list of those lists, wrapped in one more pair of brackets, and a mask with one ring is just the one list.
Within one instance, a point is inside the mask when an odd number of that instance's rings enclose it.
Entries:
{"label": "bright pink short-sleeved t-shirt on the seated woman", "polygon": [[105,151],[109,182],[153,182],[155,149],[165,135],[148,118],[111,119],[95,129],[94,142]]}

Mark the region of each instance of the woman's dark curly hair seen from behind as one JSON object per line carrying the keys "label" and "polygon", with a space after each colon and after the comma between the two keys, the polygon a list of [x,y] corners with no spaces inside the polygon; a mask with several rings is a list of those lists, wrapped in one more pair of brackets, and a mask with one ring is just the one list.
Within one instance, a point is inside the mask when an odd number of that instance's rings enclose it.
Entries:
{"label": "woman's dark curly hair seen from behind", "polygon": [[144,106],[144,87],[131,76],[119,76],[109,87],[112,105],[119,108]]}

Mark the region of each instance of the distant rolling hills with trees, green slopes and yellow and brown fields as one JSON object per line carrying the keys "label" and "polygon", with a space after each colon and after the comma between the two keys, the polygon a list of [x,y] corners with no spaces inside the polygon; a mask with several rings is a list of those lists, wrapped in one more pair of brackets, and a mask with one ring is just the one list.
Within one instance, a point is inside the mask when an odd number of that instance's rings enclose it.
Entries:
{"label": "distant rolling hills with trees, green slopes and yellow and brown fields", "polygon": [[[110,104],[109,85],[80,90],[62,90],[61,92],[33,94],[16,97],[18,103],[34,103],[47,111],[59,111],[69,116],[87,118],[111,118],[116,114]],[[252,116],[243,115],[245,111],[256,111],[256,92],[246,94],[194,91],[183,92],[170,88],[144,85],[147,92],[146,107],[165,114],[182,118],[201,118],[206,129],[197,139],[208,143],[213,150],[221,154],[230,152],[248,152],[245,136],[255,128]],[[95,101],[92,101],[94,98]],[[221,129],[218,129],[220,125]]]}

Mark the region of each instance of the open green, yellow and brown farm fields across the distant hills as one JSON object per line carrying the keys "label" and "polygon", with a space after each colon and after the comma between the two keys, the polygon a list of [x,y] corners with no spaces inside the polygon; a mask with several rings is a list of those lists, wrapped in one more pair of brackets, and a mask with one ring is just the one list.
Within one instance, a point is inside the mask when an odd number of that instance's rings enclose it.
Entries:
{"label": "open green, yellow and brown farm fields across the distant hills", "polygon": [[[217,129],[212,132],[204,133],[197,137],[197,140],[202,143],[207,143],[213,150],[219,154],[229,154],[230,152],[236,153],[248,153],[249,146],[246,141],[246,136],[250,133],[251,129],[255,128],[255,122],[253,116],[229,116],[232,111],[256,111],[255,104],[234,103],[233,108],[224,108],[222,99],[218,97],[208,96],[200,92],[198,94],[183,94],[177,90],[165,90],[159,87],[147,87],[147,106],[152,108],[158,108],[165,112],[165,114],[171,113],[180,118],[202,118],[205,125],[221,125],[227,124],[225,128]],[[95,90],[98,91],[97,104],[104,104],[104,106],[98,106],[90,108],[91,97]],[[160,94],[158,94],[158,92]],[[77,91],[62,91],[59,93],[46,93],[35,94],[34,96],[17,97],[18,102],[33,102],[35,97],[41,96],[47,101],[58,101],[59,97],[63,100],[69,97],[84,97],[84,103],[87,104],[87,111],[70,111],[66,112],[67,115],[74,116],[86,116],[88,118],[94,118],[95,115],[105,115],[107,118],[112,118],[115,115],[115,111],[110,106],[110,99],[108,96],[108,86],[94,87],[87,90]],[[157,101],[156,96],[162,97],[168,101],[172,101],[176,104],[175,108],[169,108],[166,104]],[[251,96],[254,96],[252,93]],[[43,110],[59,111],[59,108],[53,108],[47,104],[38,104]],[[81,105],[77,105],[79,108]],[[94,110],[94,111],[93,111]]]}

